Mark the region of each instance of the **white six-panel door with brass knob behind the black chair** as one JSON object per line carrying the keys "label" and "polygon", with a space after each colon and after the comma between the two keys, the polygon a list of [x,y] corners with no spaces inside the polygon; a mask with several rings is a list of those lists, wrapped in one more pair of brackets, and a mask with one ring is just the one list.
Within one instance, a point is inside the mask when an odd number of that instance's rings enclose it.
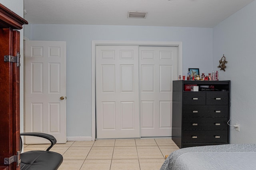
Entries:
{"label": "white six-panel door with brass knob behind the black chair", "polygon": [[[25,132],[66,143],[66,42],[25,42]],[[25,137],[25,143],[45,140]]]}

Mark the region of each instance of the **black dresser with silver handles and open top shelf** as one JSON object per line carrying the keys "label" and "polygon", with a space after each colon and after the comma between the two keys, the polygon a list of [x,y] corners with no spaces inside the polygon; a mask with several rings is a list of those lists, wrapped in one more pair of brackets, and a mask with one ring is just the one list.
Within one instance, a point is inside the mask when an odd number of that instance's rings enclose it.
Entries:
{"label": "black dresser with silver handles and open top shelf", "polygon": [[[190,85],[199,91],[185,91]],[[172,140],[179,148],[229,143],[230,80],[173,81],[172,100]]]}

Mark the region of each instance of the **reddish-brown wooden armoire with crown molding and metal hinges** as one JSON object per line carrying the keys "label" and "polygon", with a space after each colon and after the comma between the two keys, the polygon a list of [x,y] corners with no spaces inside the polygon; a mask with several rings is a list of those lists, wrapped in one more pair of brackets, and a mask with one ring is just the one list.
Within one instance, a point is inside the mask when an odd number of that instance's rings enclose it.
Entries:
{"label": "reddish-brown wooden armoire with crown molding and metal hinges", "polygon": [[20,32],[26,20],[0,4],[0,170],[20,170]]}

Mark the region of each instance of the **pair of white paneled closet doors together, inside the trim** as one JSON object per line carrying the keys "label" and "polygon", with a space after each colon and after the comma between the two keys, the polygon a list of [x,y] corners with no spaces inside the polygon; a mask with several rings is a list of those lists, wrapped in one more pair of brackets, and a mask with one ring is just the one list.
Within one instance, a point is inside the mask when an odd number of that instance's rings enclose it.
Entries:
{"label": "pair of white paneled closet doors together, inside the trim", "polygon": [[96,46],[97,139],[170,137],[177,47]]}

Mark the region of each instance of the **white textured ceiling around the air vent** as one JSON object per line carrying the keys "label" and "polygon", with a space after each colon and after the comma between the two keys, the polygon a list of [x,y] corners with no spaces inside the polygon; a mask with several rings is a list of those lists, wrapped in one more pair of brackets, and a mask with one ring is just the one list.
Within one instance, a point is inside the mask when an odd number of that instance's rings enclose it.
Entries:
{"label": "white textured ceiling around the air vent", "polygon": [[[214,27],[254,0],[24,0],[32,24]],[[148,12],[146,19],[128,11]]]}

